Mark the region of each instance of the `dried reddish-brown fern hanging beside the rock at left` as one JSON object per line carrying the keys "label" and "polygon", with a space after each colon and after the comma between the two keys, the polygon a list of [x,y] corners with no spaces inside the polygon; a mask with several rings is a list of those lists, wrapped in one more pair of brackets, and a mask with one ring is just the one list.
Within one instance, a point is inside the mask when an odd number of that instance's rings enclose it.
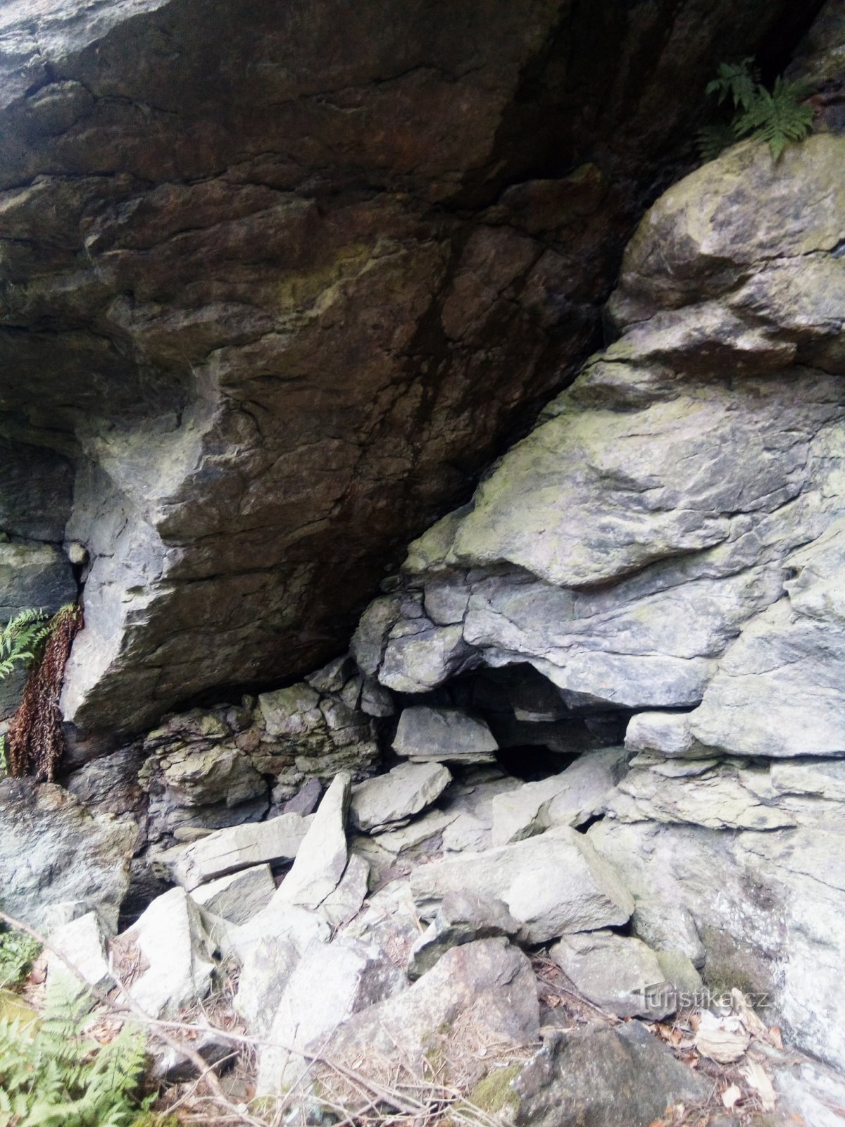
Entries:
{"label": "dried reddish-brown fern hanging beside the rock at left", "polygon": [[64,754],[59,696],[64,666],[81,628],[82,609],[63,606],[51,623],[44,655],[29,674],[7,736],[9,770],[18,779],[34,774],[41,782],[53,781]]}

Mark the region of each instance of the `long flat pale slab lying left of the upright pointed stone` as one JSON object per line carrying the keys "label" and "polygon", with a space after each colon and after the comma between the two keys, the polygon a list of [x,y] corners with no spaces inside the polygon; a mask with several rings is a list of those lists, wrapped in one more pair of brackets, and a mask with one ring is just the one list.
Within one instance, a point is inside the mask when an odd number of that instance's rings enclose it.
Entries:
{"label": "long flat pale slab lying left of the upright pointed stone", "polygon": [[206,880],[265,861],[292,861],[311,825],[311,817],[281,814],[268,822],[217,829],[176,852],[170,873],[178,885],[190,890]]}

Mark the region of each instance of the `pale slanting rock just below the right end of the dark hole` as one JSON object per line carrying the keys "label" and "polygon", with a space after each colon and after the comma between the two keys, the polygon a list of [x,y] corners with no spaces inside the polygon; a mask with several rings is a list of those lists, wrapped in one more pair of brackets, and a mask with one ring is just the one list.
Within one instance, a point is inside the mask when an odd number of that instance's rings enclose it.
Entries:
{"label": "pale slanting rock just below the right end of the dark hole", "polygon": [[585,752],[558,775],[526,782],[492,801],[492,843],[507,845],[550,826],[578,826],[599,813],[606,795],[624,775],[621,747]]}

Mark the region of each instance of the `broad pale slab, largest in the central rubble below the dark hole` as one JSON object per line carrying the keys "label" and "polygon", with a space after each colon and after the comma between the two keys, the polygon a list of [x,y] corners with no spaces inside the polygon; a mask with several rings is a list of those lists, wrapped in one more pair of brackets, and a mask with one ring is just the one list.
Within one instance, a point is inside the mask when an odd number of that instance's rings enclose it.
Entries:
{"label": "broad pale slab, largest in the central rubble below the dark hole", "polygon": [[448,893],[500,899],[530,943],[626,923],[634,902],[582,834],[557,827],[482,853],[462,853],[411,873],[420,915],[430,920]]}

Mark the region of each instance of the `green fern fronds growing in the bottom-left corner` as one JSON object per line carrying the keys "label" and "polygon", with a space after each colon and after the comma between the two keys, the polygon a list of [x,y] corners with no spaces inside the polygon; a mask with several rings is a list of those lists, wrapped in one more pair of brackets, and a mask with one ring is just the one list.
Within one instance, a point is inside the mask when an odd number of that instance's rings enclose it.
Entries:
{"label": "green fern fronds growing in the bottom-left corner", "polygon": [[176,1127],[142,1099],[144,1037],[86,1037],[90,999],[60,977],[37,1021],[0,1020],[0,1127]]}

